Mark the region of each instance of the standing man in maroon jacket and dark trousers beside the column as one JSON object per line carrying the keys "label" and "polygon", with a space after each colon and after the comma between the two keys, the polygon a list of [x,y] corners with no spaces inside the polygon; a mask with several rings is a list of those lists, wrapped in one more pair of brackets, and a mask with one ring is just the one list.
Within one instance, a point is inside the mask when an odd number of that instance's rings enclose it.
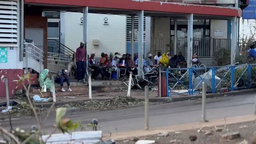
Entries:
{"label": "standing man in maroon jacket and dark trousers beside the column", "polygon": [[84,42],[80,43],[80,46],[77,48],[76,52],[77,60],[77,81],[85,82],[85,73],[86,73],[86,45]]}

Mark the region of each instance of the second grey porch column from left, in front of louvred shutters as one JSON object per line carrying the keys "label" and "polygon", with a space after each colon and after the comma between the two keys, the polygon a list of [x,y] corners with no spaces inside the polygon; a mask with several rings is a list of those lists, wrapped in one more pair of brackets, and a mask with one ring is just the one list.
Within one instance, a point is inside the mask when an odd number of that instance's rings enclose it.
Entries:
{"label": "second grey porch column from left, in front of louvred shutters", "polygon": [[143,57],[143,18],[144,18],[144,10],[139,12],[139,62],[138,62],[138,75],[142,75],[143,65],[142,65],[142,57]]}

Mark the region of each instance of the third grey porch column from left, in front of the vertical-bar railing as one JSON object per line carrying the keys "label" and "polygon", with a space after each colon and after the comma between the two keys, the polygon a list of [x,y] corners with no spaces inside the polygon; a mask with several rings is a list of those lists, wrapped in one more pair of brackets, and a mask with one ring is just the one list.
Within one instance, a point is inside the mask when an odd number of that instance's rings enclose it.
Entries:
{"label": "third grey porch column from left, in front of the vertical-bar railing", "polygon": [[187,44],[187,63],[188,67],[192,66],[192,55],[193,55],[193,14],[188,15],[188,44]]}

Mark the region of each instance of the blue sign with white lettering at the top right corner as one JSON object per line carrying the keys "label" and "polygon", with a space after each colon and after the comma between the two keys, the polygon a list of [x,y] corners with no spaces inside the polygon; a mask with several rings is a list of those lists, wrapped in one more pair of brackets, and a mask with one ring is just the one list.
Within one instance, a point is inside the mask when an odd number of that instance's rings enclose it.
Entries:
{"label": "blue sign with white lettering at the top right corner", "polygon": [[256,0],[249,0],[249,5],[243,10],[243,19],[256,19]]}

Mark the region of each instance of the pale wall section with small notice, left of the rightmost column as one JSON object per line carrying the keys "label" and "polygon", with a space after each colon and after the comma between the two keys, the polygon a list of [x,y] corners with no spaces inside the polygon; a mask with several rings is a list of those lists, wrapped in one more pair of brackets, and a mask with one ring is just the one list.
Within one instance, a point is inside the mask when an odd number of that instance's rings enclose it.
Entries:
{"label": "pale wall section with small notice, left of the rightmost column", "polygon": [[[228,30],[228,21],[226,20],[211,20],[211,37],[217,39],[226,39]],[[214,30],[223,30],[223,36],[214,36]]]}

